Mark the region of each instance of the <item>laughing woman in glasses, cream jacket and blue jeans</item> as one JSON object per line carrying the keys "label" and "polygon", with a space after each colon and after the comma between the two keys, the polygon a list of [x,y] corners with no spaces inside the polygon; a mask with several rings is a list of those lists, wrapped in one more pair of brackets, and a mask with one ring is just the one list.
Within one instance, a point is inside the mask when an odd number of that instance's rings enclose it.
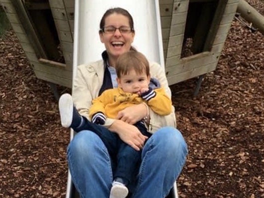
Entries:
{"label": "laughing woman in glasses, cream jacket and blue jeans", "polygon": [[[115,65],[119,55],[133,50],[133,20],[123,8],[111,8],[100,22],[101,42],[105,44],[103,60],[78,66],[73,86],[73,100],[79,113],[89,119],[91,101],[106,89],[117,87]],[[171,96],[165,72],[158,64],[150,64],[150,75]],[[146,141],[133,126],[144,119],[153,135]],[[174,108],[170,115],[159,116],[144,103],[127,107],[116,119],[107,118],[105,134],[115,140],[119,136],[134,149],[142,149],[138,174],[129,189],[132,198],[164,198],[185,163],[187,146],[175,129]],[[144,144],[145,143],[145,144]],[[144,147],[143,147],[144,146]],[[109,198],[116,167],[116,156],[110,155],[102,140],[92,131],[78,132],[70,142],[67,156],[73,183],[82,198]]]}

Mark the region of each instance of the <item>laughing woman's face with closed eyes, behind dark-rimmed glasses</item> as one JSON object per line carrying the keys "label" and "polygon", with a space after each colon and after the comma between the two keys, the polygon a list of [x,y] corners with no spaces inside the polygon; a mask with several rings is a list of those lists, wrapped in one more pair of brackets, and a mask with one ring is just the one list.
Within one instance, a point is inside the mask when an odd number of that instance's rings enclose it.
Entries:
{"label": "laughing woman's face with closed eyes, behind dark-rimmed glasses", "polygon": [[[105,27],[109,26],[130,27],[129,18],[122,14],[113,13],[105,19]],[[100,39],[105,44],[109,58],[117,59],[119,55],[130,50],[134,40],[134,32],[121,33],[119,29],[116,29],[115,33],[100,33]]]}

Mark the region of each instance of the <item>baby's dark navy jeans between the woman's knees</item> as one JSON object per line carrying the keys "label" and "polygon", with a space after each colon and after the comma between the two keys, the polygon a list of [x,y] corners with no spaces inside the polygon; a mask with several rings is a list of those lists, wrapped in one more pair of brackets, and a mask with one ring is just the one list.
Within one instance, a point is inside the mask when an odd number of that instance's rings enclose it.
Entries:
{"label": "baby's dark navy jeans between the woman's knees", "polygon": [[[136,122],[134,124],[138,130],[145,136],[150,137],[151,133],[147,132],[143,123]],[[76,132],[89,130],[96,133],[104,145],[106,146],[110,158],[112,159],[112,168],[114,179],[123,179],[126,186],[132,183],[133,178],[138,173],[138,168],[141,162],[141,151],[136,151],[131,146],[123,142],[119,136],[110,132],[106,127],[94,124],[85,117],[83,123],[79,127],[72,127]]]}

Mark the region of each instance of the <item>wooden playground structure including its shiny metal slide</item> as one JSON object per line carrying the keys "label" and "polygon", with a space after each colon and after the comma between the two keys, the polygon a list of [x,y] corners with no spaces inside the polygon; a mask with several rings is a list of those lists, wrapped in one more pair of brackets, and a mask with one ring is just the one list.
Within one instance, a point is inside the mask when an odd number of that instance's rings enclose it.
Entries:
{"label": "wooden playground structure including its shiny metal slide", "polygon": [[[169,85],[216,69],[239,0],[0,0],[37,78],[72,87],[77,65],[100,59],[99,20],[128,9],[135,48],[165,68]],[[91,20],[88,20],[91,19]],[[73,42],[75,41],[75,42]],[[98,46],[96,49],[94,46]],[[198,85],[199,85],[198,81]],[[71,133],[71,138],[73,137]],[[78,193],[68,177],[67,198]],[[168,198],[177,198],[176,183]]]}

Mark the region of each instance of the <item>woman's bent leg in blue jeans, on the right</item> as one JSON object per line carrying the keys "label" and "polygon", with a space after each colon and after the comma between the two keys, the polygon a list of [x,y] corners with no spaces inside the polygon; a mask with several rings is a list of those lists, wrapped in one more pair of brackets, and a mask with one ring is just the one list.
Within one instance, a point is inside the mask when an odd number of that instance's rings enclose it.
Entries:
{"label": "woman's bent leg in blue jeans, on the right", "polygon": [[146,142],[132,198],[164,198],[181,173],[188,153],[177,129],[163,127]]}

